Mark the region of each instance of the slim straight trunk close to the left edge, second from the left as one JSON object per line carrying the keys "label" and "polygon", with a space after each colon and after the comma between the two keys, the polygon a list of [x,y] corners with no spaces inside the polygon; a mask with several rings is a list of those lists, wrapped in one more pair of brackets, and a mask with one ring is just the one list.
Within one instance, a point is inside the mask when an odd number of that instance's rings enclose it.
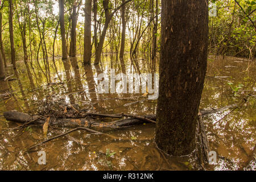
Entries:
{"label": "slim straight trunk close to the left edge, second from the left", "polygon": [[13,0],[9,1],[9,31],[10,31],[10,43],[11,43],[11,64],[13,64],[13,69],[16,69],[15,48],[14,48],[14,38],[13,38]]}

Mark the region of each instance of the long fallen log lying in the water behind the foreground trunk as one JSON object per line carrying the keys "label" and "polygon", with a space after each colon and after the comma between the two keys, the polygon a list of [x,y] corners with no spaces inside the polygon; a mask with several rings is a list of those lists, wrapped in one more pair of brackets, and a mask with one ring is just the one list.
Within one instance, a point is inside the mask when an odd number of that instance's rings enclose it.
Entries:
{"label": "long fallen log lying in the water behind the foreground trunk", "polygon": [[[236,107],[237,105],[229,105],[222,107],[220,109],[212,109],[212,110],[200,110],[199,115],[208,115],[217,113],[232,107]],[[3,116],[8,121],[18,122],[18,123],[38,123],[43,125],[46,121],[47,116],[43,115],[30,115],[25,113],[20,113],[18,111],[6,111],[3,113]],[[122,118],[122,117],[129,117],[125,119],[120,119],[118,121],[113,122],[100,122],[92,118],[88,117],[106,117],[106,118]],[[94,126],[94,127],[124,127],[124,126],[131,126],[131,125],[139,125],[145,122],[154,122],[156,121],[156,115],[135,115],[131,114],[98,114],[98,113],[88,113],[84,118],[54,118],[51,117],[49,120],[49,124],[51,126],[58,126],[58,127],[81,127],[81,126]],[[150,121],[151,120],[151,121]]]}

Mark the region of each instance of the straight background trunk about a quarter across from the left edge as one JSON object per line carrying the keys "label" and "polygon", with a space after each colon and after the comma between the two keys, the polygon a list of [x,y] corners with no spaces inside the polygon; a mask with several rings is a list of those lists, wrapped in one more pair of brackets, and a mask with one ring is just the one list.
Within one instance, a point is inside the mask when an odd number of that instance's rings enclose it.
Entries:
{"label": "straight background trunk about a quarter across from the left edge", "polygon": [[60,14],[60,34],[62,43],[62,60],[68,59],[66,39],[65,39],[65,20],[64,20],[64,0],[59,0],[59,14]]}

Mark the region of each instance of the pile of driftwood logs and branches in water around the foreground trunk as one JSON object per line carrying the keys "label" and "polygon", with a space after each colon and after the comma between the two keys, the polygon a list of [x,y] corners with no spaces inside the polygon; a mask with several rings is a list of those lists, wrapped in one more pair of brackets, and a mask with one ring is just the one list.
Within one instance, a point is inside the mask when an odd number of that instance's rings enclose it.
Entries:
{"label": "pile of driftwood logs and branches in water around the foreground trunk", "polygon": [[[229,105],[222,107],[220,109],[212,110],[200,110],[199,116],[197,119],[197,132],[196,132],[196,156],[199,159],[200,165],[204,168],[204,164],[208,163],[208,152],[209,144],[207,140],[207,135],[205,134],[203,115],[217,113],[230,107],[236,108],[237,105]],[[71,127],[73,129],[69,130],[66,133],[57,132],[59,135],[49,138],[35,144],[29,148],[27,151],[30,151],[32,148],[40,146],[43,143],[49,142],[50,140],[59,138],[59,137],[69,137],[68,134],[77,130],[86,130],[93,134],[106,135],[113,139],[119,139],[113,135],[101,133],[100,131],[93,130],[93,127],[110,127],[110,128],[122,128],[129,127],[132,125],[139,125],[143,123],[156,123],[156,115],[134,115],[134,114],[101,114],[101,113],[89,113],[88,110],[77,110],[75,107],[71,106],[69,111],[64,109],[63,114],[52,115],[30,115],[26,113],[20,113],[18,111],[6,111],[3,113],[3,116],[8,121],[22,123],[18,128],[22,128],[25,125],[47,125],[51,127]],[[102,118],[102,119],[101,119]],[[114,121],[102,122],[103,118],[112,118]],[[105,120],[104,120],[105,121]],[[75,140],[75,139],[74,139]]]}

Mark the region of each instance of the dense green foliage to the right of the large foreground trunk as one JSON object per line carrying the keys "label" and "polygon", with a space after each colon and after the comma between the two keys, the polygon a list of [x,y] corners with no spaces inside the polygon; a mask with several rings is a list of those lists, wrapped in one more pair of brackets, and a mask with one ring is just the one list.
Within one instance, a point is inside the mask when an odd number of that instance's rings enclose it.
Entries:
{"label": "dense green foliage to the right of the large foreground trunk", "polygon": [[256,33],[252,22],[256,20],[256,2],[237,1],[242,8],[235,1],[211,2],[217,5],[217,16],[209,18],[209,52],[254,57]]}

